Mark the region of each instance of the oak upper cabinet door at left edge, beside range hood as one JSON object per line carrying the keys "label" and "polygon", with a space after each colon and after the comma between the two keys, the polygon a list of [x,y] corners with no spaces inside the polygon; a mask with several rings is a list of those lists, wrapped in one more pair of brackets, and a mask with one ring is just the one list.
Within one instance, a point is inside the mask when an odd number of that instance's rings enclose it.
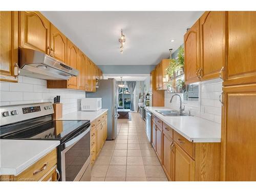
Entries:
{"label": "oak upper cabinet door at left edge, beside range hood", "polygon": [[18,12],[0,11],[0,80],[17,81]]}

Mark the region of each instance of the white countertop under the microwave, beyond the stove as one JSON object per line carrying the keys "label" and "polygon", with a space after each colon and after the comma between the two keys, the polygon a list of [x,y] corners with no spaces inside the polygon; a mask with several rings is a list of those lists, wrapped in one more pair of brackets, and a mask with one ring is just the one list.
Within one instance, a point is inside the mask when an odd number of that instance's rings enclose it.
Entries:
{"label": "white countertop under the microwave, beyond the stove", "polygon": [[98,111],[77,111],[74,113],[69,113],[63,115],[60,120],[90,120],[91,122],[97,117],[101,116],[103,113],[108,111],[108,109],[100,109]]}

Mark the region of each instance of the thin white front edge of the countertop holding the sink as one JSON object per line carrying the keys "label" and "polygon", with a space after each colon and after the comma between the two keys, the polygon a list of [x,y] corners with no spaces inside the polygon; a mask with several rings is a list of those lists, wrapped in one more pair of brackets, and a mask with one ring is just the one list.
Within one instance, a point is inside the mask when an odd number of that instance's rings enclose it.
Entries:
{"label": "thin white front edge of the countertop holding the sink", "polygon": [[181,132],[179,129],[177,129],[175,126],[173,126],[172,124],[166,122],[164,119],[162,119],[161,116],[159,116],[159,114],[157,114],[156,111],[154,110],[150,110],[146,107],[147,111],[150,111],[151,113],[153,113],[154,115],[156,115],[159,119],[161,119],[165,124],[167,124],[168,126],[172,127],[173,130],[175,130],[177,133],[179,133],[180,135],[182,135],[183,137],[185,137],[188,141],[190,142],[194,142],[194,143],[220,143],[221,142],[221,138],[191,138],[188,135],[186,135],[185,133]]}

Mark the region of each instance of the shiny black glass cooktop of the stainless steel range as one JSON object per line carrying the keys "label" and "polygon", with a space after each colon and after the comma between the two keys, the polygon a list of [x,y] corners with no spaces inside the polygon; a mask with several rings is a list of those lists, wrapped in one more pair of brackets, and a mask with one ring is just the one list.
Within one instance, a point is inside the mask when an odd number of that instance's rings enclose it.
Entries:
{"label": "shiny black glass cooktop of the stainless steel range", "polygon": [[1,139],[46,139],[65,141],[81,129],[88,129],[90,120],[52,120],[39,117],[0,127]]}

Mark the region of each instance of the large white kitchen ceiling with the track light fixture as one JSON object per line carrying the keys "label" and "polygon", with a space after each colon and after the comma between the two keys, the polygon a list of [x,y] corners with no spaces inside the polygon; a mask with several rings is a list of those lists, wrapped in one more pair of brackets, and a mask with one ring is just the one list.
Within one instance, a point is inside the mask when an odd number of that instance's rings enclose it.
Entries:
{"label": "large white kitchen ceiling with the track light fixture", "polygon": [[[156,65],[183,44],[202,11],[42,11],[96,65]],[[126,42],[123,54],[118,38]],[[170,42],[175,39],[174,42]]]}

